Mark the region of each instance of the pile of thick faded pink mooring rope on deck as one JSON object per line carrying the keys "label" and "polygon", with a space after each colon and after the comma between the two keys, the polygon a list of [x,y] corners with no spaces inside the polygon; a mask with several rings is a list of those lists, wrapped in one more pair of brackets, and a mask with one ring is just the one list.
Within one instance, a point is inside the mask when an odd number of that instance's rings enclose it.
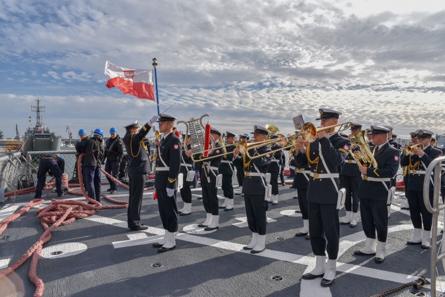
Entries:
{"label": "pile of thick faded pink mooring rope on deck", "polygon": [[[8,274],[15,271],[17,268],[19,268],[23,263],[25,263],[31,256],[31,266],[29,268],[28,276],[31,280],[31,282],[36,286],[36,291],[34,292],[34,297],[42,297],[45,289],[45,284],[43,280],[37,275],[37,262],[39,260],[39,257],[42,253],[43,245],[47,243],[51,239],[51,231],[53,231],[58,226],[64,226],[68,225],[76,220],[77,217],[88,217],[90,215],[94,215],[96,211],[101,210],[108,210],[108,209],[120,209],[120,208],[127,208],[128,202],[126,201],[119,201],[112,199],[110,197],[107,197],[106,195],[101,195],[101,197],[105,198],[106,200],[116,203],[119,205],[109,205],[109,206],[102,206],[99,202],[89,198],[88,193],[85,191],[83,179],[82,179],[82,170],[81,170],[81,162],[82,158],[85,154],[82,154],[79,157],[79,162],[77,164],[78,166],[78,172],[79,172],[79,182],[80,182],[80,189],[81,193],[71,193],[75,195],[84,195],[85,198],[88,200],[89,203],[83,202],[83,201],[74,201],[74,200],[51,200],[51,204],[47,207],[40,209],[37,211],[37,218],[41,219],[41,224],[45,230],[45,232],[40,237],[39,241],[37,241],[31,248],[28,249],[28,251],[20,257],[20,259],[15,262],[13,265],[11,265],[8,268],[5,268],[3,270],[0,270],[0,276],[7,276]],[[112,178],[115,182],[117,182],[119,185],[122,185],[125,188],[129,188],[127,185],[121,183],[120,181],[116,180],[114,177],[106,173],[104,170],[102,170],[108,177]],[[65,174],[66,175],[66,174]],[[52,178],[53,179],[53,178]],[[50,182],[47,183],[46,189],[51,189],[54,184]],[[66,183],[64,183],[66,182]],[[62,177],[62,184],[65,187],[68,186],[68,176]],[[152,189],[153,187],[147,188]],[[79,188],[78,188],[79,189]],[[73,189],[74,190],[74,189]],[[17,191],[16,194],[24,194],[24,193],[31,193],[35,191],[35,187],[30,187],[26,189],[21,189],[20,191]],[[13,194],[12,194],[13,195]],[[41,204],[44,204],[45,200],[43,199],[35,199],[27,203],[25,206],[23,206],[20,210],[14,212],[10,216],[8,216],[6,219],[0,222],[0,235],[6,230],[9,223],[20,217],[22,214],[28,212],[30,209],[39,206]]]}

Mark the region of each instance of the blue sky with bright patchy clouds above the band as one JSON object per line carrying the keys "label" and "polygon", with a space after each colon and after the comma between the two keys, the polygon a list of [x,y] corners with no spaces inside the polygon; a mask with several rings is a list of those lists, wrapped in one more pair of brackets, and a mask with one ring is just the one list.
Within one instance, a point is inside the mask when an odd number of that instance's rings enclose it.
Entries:
{"label": "blue sky with bright patchy clouds above the band", "polygon": [[[108,89],[105,61],[151,69],[161,112],[222,130],[294,130],[319,107],[369,126],[445,132],[445,1],[0,1],[2,130],[39,96],[45,127],[108,132],[156,114]],[[179,127],[183,129],[183,127]],[[77,133],[76,133],[77,134]]]}

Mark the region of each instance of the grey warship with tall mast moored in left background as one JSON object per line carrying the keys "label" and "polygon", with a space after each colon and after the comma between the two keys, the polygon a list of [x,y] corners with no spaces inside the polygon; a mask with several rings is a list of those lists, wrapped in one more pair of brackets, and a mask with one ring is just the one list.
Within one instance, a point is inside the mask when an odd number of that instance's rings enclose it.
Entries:
{"label": "grey warship with tall mast moored in left background", "polygon": [[32,151],[59,151],[62,145],[62,136],[51,132],[44,127],[41,112],[45,112],[45,106],[40,105],[39,98],[36,99],[37,106],[31,106],[31,111],[36,113],[37,121],[35,127],[28,127],[23,136],[23,154]]}

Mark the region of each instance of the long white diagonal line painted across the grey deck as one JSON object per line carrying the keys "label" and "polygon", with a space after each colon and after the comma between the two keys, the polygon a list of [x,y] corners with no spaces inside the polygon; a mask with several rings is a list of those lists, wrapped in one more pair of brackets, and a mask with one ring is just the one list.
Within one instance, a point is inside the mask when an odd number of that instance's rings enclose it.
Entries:
{"label": "long white diagonal line painted across the grey deck", "polygon": [[[104,223],[104,224],[121,223],[121,224],[116,224],[115,226],[124,227],[124,228],[127,227],[126,225],[122,224],[122,223],[126,224],[127,222],[113,219],[113,218],[103,217],[103,216],[99,216],[99,215],[92,215],[92,216],[86,217],[84,219],[94,221],[94,222]],[[156,228],[156,227],[148,227],[147,230],[143,230],[140,232],[162,235],[162,234],[164,234],[164,229]],[[179,232],[177,233],[176,238],[183,240],[183,241],[200,244],[200,245],[216,247],[216,248],[220,248],[220,249],[224,249],[224,250],[228,250],[228,251],[249,254],[252,256],[267,257],[267,258],[271,258],[271,259],[275,259],[275,260],[292,262],[292,263],[297,263],[297,264],[306,265],[306,266],[309,266],[311,264],[313,265],[313,262],[315,260],[314,257],[312,257],[312,256],[310,257],[310,256],[305,256],[305,255],[297,255],[297,254],[273,251],[273,250],[268,250],[268,249],[260,254],[250,254],[249,251],[245,251],[242,249],[243,246],[245,246],[245,244],[238,244],[238,243],[233,243],[233,242],[229,242],[229,241],[221,241],[218,239],[206,238],[206,237],[185,234],[185,233],[179,233]],[[267,240],[267,238],[266,238],[266,240]],[[337,262],[337,271],[345,272],[345,273],[352,273],[352,274],[375,278],[375,279],[380,279],[380,280],[391,280],[393,282],[401,283],[401,284],[416,280],[418,278],[418,276],[415,276],[415,275],[408,275],[408,274],[403,274],[403,273],[385,271],[385,270],[363,267],[363,266],[342,263],[342,262]],[[438,281],[438,285],[445,286],[445,282]],[[429,286],[425,286],[425,288],[429,288]]]}

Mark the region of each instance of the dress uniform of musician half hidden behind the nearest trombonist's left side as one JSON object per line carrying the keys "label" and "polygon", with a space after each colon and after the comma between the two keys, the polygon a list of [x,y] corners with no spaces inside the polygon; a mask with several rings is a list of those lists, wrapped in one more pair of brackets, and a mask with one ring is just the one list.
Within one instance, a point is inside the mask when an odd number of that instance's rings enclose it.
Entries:
{"label": "dress uniform of musician half hidden behind the nearest trombonist's left side", "polygon": [[[297,154],[294,154],[294,162]],[[309,237],[309,203],[307,198],[308,184],[309,184],[309,174],[311,173],[309,163],[305,167],[296,167],[294,171],[294,182],[292,186],[297,189],[298,205],[300,206],[300,212],[303,217],[303,228],[300,229],[295,236],[306,236]]]}

